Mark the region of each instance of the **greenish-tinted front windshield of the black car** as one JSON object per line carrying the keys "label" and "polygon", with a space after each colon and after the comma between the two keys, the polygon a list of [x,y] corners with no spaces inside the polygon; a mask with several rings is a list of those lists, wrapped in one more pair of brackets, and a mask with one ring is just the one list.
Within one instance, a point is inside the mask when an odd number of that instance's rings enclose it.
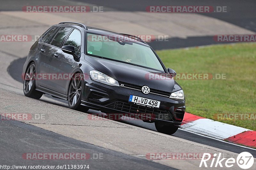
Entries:
{"label": "greenish-tinted front windshield of the black car", "polygon": [[164,72],[163,66],[150,47],[135,43],[131,38],[126,37],[130,40],[127,41],[125,37],[120,37],[87,33],[86,53]]}

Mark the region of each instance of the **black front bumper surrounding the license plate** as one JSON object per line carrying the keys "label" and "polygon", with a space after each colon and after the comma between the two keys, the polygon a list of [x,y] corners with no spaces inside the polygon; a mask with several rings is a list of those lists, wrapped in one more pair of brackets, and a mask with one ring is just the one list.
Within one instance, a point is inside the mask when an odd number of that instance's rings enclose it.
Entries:
{"label": "black front bumper surrounding the license plate", "polygon": [[[159,108],[150,108],[128,102],[130,94],[147,99],[161,101]],[[176,101],[155,94],[143,94],[140,91],[104,85],[92,80],[85,82],[82,105],[104,113],[129,113],[140,115],[145,122],[161,121],[179,126],[185,114],[185,101]]]}

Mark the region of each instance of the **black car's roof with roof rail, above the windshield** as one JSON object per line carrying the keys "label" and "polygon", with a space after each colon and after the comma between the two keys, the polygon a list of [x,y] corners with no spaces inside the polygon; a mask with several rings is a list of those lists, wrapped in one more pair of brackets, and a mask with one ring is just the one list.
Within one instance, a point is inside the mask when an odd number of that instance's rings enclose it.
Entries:
{"label": "black car's roof with roof rail, above the windshield", "polygon": [[[132,42],[136,42],[138,44],[145,45],[145,46],[149,47],[149,45],[146,42],[144,42],[139,37],[136,37],[134,35],[123,34],[123,33],[115,33],[115,32],[104,30],[104,29],[100,29],[100,28],[94,28],[94,27],[85,26],[84,24],[81,24],[81,23],[62,22],[62,23],[54,25],[54,26],[72,26],[72,27],[76,27],[77,29],[79,29],[81,31],[85,31],[87,33],[107,35],[109,37],[115,37],[115,38],[119,38],[121,36],[121,37],[124,37],[125,40],[129,41],[129,39],[130,39]],[[120,38],[120,39],[122,39],[122,38]]]}

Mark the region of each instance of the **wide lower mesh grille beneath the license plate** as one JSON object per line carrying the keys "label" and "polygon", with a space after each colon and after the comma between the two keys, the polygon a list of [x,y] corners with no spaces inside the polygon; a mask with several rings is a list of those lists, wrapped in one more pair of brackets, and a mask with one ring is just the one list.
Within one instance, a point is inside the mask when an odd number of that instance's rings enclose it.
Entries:
{"label": "wide lower mesh grille beneath the license plate", "polygon": [[147,116],[152,118],[152,120],[154,118],[161,119],[161,120],[168,120],[168,121],[172,120],[167,111],[139,106],[136,104],[125,103],[121,101],[116,101],[108,105],[107,107],[111,109],[119,110],[121,112],[128,112],[128,113],[133,113],[141,116]]}

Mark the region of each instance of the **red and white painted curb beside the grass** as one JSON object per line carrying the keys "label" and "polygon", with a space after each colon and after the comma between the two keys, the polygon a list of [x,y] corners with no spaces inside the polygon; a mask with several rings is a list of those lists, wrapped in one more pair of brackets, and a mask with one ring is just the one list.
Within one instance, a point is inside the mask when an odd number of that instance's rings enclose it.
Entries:
{"label": "red and white painted curb beside the grass", "polygon": [[185,113],[181,128],[244,146],[256,147],[256,131]]}

